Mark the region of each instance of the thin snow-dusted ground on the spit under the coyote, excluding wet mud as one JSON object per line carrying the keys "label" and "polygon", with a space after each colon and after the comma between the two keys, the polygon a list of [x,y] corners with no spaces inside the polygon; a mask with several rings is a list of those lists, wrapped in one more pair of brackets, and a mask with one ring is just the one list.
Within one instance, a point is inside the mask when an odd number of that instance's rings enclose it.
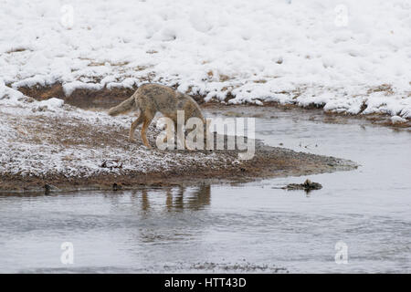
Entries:
{"label": "thin snow-dusted ground on the spit under the coyote, excluding wet mud", "polygon": [[[128,142],[131,120],[130,116],[113,118],[104,112],[79,110],[62,99],[27,101],[23,95],[1,99],[0,174],[92,177],[231,164],[228,157],[215,153],[150,151],[141,142]],[[153,132],[158,134],[154,126],[148,133],[151,140]]]}

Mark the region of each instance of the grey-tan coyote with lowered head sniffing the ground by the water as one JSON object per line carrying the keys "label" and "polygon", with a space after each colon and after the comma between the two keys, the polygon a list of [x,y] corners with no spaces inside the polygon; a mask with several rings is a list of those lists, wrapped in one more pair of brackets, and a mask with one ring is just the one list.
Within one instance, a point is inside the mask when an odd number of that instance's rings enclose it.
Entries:
{"label": "grey-tan coyote with lowered head sniffing the ground by the water", "polygon": [[173,120],[175,129],[183,126],[177,124],[177,110],[184,110],[184,124],[186,120],[192,117],[198,118],[206,124],[205,118],[195,99],[160,84],[143,84],[134,92],[131,98],[111,108],[109,115],[116,116],[129,110],[140,110],[140,116],[132,122],[129,141],[134,141],[134,131],[142,123],[142,142],[147,148],[151,147],[147,141],[146,131],[157,111],[160,111],[165,117]]}

